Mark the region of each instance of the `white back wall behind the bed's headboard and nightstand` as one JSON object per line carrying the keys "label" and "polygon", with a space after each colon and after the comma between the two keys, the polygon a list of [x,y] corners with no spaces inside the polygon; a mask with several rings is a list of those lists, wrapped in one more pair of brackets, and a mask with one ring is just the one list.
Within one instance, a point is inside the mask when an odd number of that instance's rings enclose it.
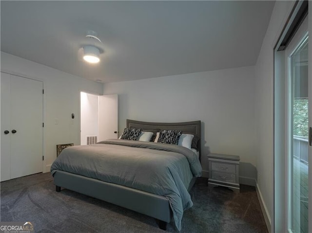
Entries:
{"label": "white back wall behind the bed's headboard and nightstand", "polygon": [[[239,155],[242,182],[256,178],[254,67],[104,84],[119,95],[119,134],[126,119],[202,121],[202,164],[213,153]],[[204,176],[208,176],[204,172]]]}

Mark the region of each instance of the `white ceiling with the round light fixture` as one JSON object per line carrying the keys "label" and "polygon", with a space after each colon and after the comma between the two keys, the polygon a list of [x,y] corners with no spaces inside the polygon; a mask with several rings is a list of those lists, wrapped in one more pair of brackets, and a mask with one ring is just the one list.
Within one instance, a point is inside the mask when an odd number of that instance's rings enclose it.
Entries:
{"label": "white ceiling with the round light fixture", "polygon": [[[274,1],[3,1],[1,51],[116,82],[256,63]],[[102,44],[86,38],[94,30]],[[96,65],[82,46],[103,53]]]}

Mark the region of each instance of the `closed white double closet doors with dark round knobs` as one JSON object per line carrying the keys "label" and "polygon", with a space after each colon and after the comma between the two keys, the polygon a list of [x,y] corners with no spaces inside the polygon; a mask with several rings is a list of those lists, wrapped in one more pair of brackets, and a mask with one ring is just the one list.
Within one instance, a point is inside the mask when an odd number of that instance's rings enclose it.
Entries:
{"label": "closed white double closet doors with dark round knobs", "polygon": [[43,83],[1,72],[1,181],[42,172]]}

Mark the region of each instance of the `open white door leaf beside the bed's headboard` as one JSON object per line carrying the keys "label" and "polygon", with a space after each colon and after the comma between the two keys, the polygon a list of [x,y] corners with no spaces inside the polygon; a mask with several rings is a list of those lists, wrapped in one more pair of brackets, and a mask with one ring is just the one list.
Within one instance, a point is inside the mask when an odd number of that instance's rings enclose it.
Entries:
{"label": "open white door leaf beside the bed's headboard", "polygon": [[118,95],[99,96],[99,139],[118,138]]}

